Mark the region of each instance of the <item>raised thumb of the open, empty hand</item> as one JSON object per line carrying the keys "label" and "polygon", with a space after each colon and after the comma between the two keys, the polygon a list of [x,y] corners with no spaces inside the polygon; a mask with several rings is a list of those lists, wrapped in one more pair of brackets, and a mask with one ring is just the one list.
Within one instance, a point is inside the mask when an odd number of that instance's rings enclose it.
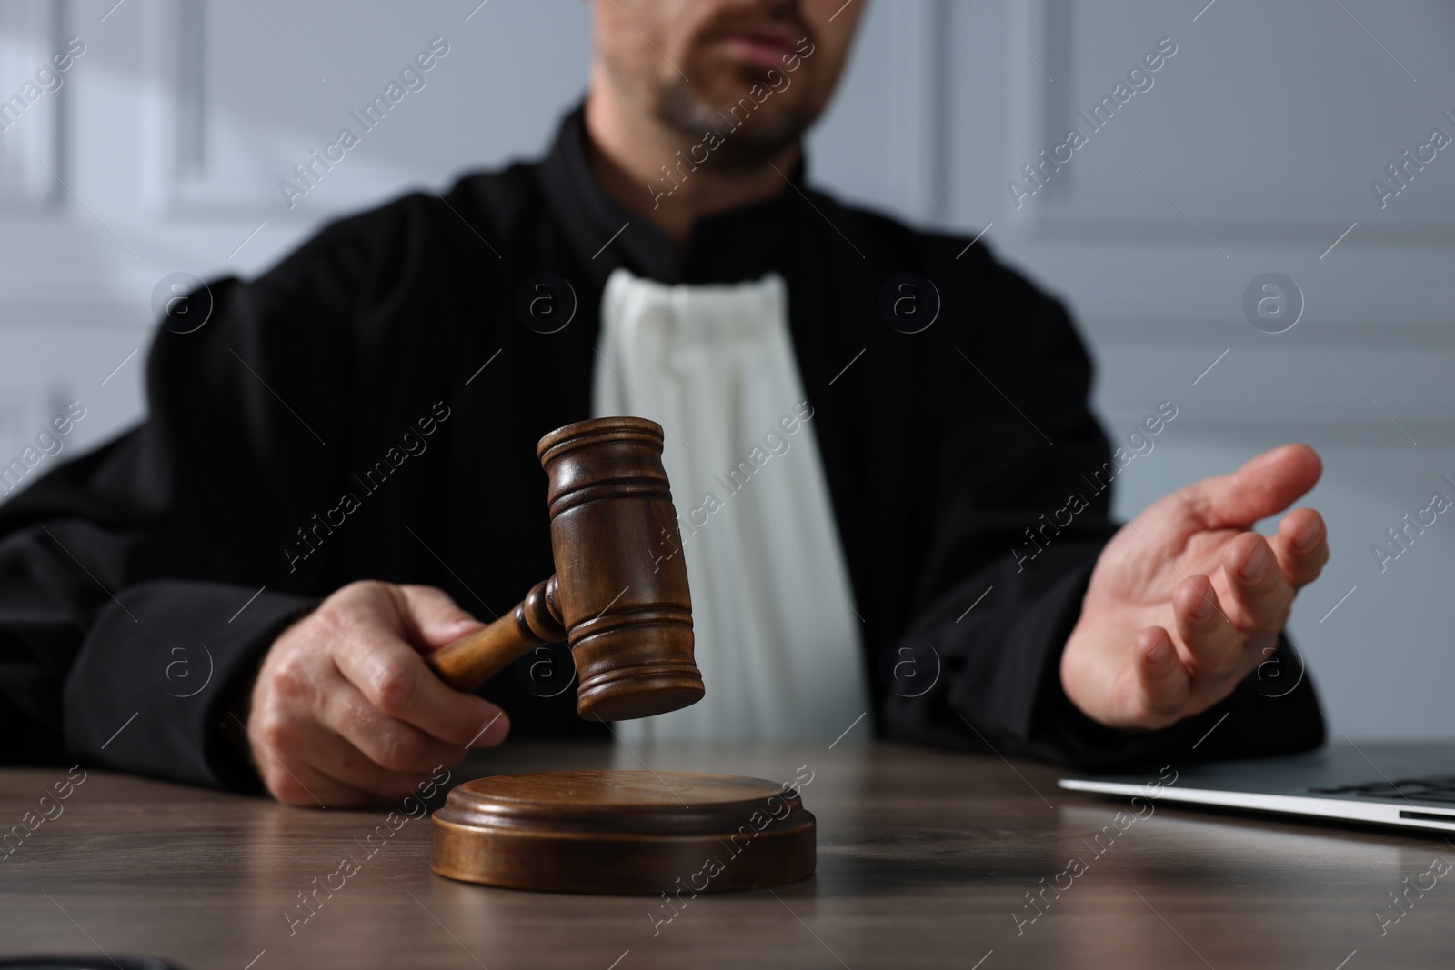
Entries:
{"label": "raised thumb of the open, empty hand", "polygon": [[1228,476],[1203,478],[1179,494],[1208,529],[1250,528],[1314,487],[1324,465],[1308,445],[1282,445]]}

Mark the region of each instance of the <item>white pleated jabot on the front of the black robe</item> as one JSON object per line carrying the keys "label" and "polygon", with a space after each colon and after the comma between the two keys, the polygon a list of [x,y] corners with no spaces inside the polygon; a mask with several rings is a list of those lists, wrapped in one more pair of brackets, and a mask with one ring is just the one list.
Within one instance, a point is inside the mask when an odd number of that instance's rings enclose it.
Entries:
{"label": "white pleated jabot on the front of the black robe", "polygon": [[592,413],[662,425],[707,695],[636,740],[834,739],[869,710],[860,620],[781,276],[668,286],[617,269]]}

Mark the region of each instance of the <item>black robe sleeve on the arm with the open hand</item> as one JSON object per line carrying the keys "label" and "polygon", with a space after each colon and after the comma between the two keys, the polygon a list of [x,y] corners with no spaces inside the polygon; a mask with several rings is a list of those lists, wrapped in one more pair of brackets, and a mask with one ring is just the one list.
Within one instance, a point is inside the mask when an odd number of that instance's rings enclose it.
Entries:
{"label": "black robe sleeve on the arm with the open hand", "polygon": [[1164,730],[1112,730],[1067,698],[1061,652],[1116,532],[1112,483],[1120,462],[1157,461],[1157,439],[1145,457],[1113,457],[1088,410],[1091,366],[1065,310],[1016,273],[992,272],[982,292],[1010,310],[956,336],[978,371],[966,368],[943,401],[934,538],[914,618],[880,656],[882,730],[1084,769],[1323,743],[1312,684],[1286,637],[1225,701]]}

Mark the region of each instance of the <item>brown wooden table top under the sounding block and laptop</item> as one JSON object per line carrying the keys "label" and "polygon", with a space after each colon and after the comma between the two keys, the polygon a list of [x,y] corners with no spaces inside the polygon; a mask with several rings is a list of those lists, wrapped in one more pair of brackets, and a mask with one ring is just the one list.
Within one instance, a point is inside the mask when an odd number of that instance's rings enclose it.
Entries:
{"label": "brown wooden table top under the sounding block and laptop", "polygon": [[[1097,855],[1093,836],[1126,806],[1064,793],[1056,769],[1029,762],[848,740],[637,755],[653,769],[774,781],[812,772],[803,801],[819,820],[818,874],[776,891],[700,896],[679,912],[661,899],[482,889],[429,871],[426,819],[391,830],[383,809],[284,809],[92,771],[63,814],[0,862],[0,954],[105,950],[192,970],[1368,970],[1448,967],[1455,954],[1452,880],[1382,938],[1372,915],[1433,857],[1455,861],[1439,836],[1158,803]],[[604,745],[518,745],[476,755],[451,784],[544,768],[642,763]],[[0,778],[9,826],[65,772]],[[387,839],[370,839],[377,826]],[[345,857],[356,871],[335,875]],[[1048,890],[1035,922],[1018,922],[1013,913],[1036,912],[1026,893],[1067,886],[1058,874],[1072,857],[1085,871],[1059,897]],[[340,881],[317,893],[316,909],[301,906],[300,893]],[[294,921],[311,916],[294,922],[290,909]]]}

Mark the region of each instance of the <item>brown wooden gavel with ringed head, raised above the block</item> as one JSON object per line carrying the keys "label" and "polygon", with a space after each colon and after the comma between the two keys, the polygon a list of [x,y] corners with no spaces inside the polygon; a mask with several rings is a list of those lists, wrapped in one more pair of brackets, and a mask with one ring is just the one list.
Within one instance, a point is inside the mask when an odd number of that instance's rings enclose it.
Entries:
{"label": "brown wooden gavel with ringed head, raised above the block", "polygon": [[581,717],[620,721],[695,704],[703,676],[662,428],[642,417],[576,422],[541,438],[535,454],[550,480],[556,574],[426,663],[473,691],[527,652],[565,640]]}

